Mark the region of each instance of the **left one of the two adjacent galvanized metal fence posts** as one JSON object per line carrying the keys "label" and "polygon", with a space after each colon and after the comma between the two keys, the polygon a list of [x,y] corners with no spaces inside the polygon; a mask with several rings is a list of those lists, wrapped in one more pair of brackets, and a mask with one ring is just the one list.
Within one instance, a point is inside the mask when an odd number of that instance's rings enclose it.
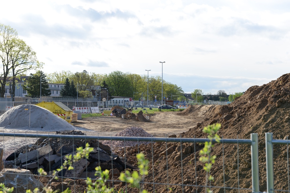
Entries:
{"label": "left one of the two adjacent galvanized metal fence posts", "polygon": [[259,148],[258,134],[251,133],[251,159],[252,159],[252,187],[253,193],[260,192],[259,190]]}

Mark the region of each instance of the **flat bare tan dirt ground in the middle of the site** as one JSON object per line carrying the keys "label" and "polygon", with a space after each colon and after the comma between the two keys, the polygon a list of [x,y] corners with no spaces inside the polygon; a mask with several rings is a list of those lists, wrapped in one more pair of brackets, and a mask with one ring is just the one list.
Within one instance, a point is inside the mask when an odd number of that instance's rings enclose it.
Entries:
{"label": "flat bare tan dirt ground in the middle of the site", "polygon": [[[141,127],[154,137],[168,137],[179,135],[202,122],[204,114],[215,105],[196,105],[197,111],[190,116],[177,115],[175,112],[158,112],[151,116],[150,122],[138,122],[115,116],[88,117],[74,122],[74,126],[89,129],[83,131],[87,135],[114,136],[128,127]],[[97,133],[96,133],[97,132]]]}

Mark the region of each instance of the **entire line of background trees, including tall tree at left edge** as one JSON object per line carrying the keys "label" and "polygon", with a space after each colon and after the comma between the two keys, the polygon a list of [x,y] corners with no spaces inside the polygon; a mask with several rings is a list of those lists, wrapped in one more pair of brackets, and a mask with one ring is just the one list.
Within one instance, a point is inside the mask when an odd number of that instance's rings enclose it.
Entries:
{"label": "entire line of background trees, including tall tree at left edge", "polygon": [[[110,96],[132,97],[134,100],[148,99],[162,100],[163,95],[168,100],[185,100],[181,87],[163,80],[163,93],[161,93],[161,76],[146,76],[134,73],[113,71],[109,74],[90,73],[86,70],[72,73],[71,71],[55,71],[45,74],[43,63],[39,62],[32,47],[18,37],[17,31],[9,25],[0,23],[0,58],[3,70],[0,73],[0,97],[5,95],[5,86],[10,85],[10,95],[14,101],[15,85],[18,81],[25,82],[24,90],[28,96],[49,96],[49,83],[64,84],[60,91],[61,96],[80,98],[107,98]],[[28,80],[21,80],[26,72],[30,73]],[[147,89],[149,90],[147,96]],[[192,92],[192,98],[201,102],[203,99],[201,89]],[[233,95],[231,98],[234,99]],[[210,96],[209,96],[210,100]],[[219,100],[224,100],[224,93],[220,92]]]}

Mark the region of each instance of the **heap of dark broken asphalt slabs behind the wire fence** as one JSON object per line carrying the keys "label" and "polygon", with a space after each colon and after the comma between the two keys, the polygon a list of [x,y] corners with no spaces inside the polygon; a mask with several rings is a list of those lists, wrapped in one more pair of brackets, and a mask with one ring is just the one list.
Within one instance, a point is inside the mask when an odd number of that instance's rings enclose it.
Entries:
{"label": "heap of dark broken asphalt slabs behind the wire fence", "polygon": [[[57,132],[60,135],[84,135],[80,131]],[[111,148],[103,145],[98,140],[84,139],[53,139],[40,138],[35,144],[23,146],[12,153],[4,161],[5,168],[20,168],[30,170],[33,174],[38,174],[37,169],[43,168],[46,172],[51,172],[62,166],[66,161],[66,155],[74,155],[76,148],[85,147],[89,143],[93,147],[93,152],[89,154],[89,159],[80,159],[74,164],[74,170],[62,170],[58,176],[62,177],[91,177],[95,178],[95,168],[101,166],[102,170],[117,169],[121,172],[127,169],[137,169],[127,163],[122,157],[111,154]]]}

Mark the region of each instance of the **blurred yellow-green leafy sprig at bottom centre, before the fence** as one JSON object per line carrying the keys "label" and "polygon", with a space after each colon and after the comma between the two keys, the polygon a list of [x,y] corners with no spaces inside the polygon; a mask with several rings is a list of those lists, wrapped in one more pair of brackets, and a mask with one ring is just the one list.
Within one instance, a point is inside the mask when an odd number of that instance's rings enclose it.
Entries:
{"label": "blurred yellow-green leafy sprig at bottom centre, before the fence", "polygon": [[119,179],[121,181],[125,181],[127,183],[130,183],[133,185],[133,187],[140,189],[140,192],[142,193],[147,193],[146,190],[143,190],[143,185],[142,187],[140,184],[144,181],[145,175],[148,174],[148,168],[149,168],[149,160],[145,159],[145,156],[143,153],[139,153],[136,155],[138,159],[138,168],[140,175],[137,171],[133,171],[130,173],[129,170],[126,170],[125,173],[121,172]]}

